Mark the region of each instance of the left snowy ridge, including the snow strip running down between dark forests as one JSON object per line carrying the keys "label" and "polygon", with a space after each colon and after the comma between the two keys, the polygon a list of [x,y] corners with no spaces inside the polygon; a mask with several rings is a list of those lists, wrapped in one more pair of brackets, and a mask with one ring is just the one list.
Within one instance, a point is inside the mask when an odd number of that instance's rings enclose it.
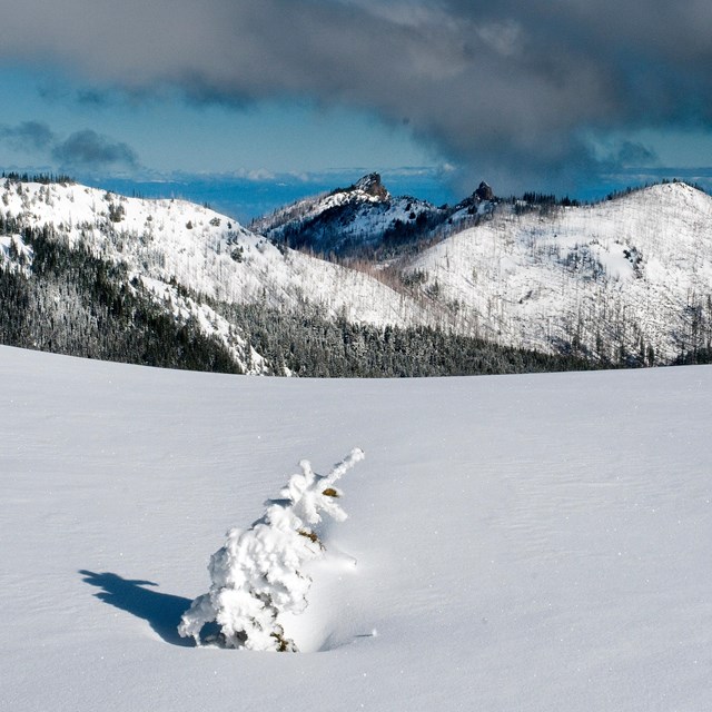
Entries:
{"label": "left snowy ridge, including the snow strip running down between dark forests", "polygon": [[[32,240],[40,237],[120,264],[128,289],[147,295],[179,319],[192,318],[245,370],[261,373],[260,355],[216,304],[259,303],[283,312],[308,305],[325,317],[377,326],[436,320],[416,300],[378,279],[277,248],[235,220],[182,200],[7,179],[0,187],[0,268],[31,278]],[[59,305],[62,295],[55,297]],[[70,308],[61,304],[62,310]]]}

